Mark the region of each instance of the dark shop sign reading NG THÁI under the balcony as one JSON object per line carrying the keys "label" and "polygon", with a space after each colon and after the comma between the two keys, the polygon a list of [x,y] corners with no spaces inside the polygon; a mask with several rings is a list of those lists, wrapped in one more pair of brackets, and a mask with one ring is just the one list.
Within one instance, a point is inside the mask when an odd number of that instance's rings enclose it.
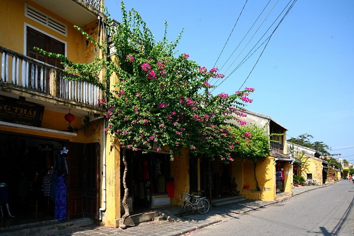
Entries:
{"label": "dark shop sign reading NG TH\u00c1I under the balcony", "polygon": [[25,100],[0,96],[0,121],[40,127],[44,107]]}

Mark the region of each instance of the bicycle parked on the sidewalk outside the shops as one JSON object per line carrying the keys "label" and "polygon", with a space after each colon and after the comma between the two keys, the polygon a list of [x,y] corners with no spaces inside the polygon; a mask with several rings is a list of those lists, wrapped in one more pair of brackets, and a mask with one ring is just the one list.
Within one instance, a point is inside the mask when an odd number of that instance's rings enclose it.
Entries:
{"label": "bicycle parked on the sidewalk outside the shops", "polygon": [[[182,201],[184,202],[181,210],[182,214],[185,213],[186,204],[188,203],[191,206],[191,211],[197,210],[200,214],[205,214],[209,211],[210,202],[206,197],[200,197],[199,195],[189,194],[185,191],[182,191]],[[192,201],[191,201],[192,200]]]}

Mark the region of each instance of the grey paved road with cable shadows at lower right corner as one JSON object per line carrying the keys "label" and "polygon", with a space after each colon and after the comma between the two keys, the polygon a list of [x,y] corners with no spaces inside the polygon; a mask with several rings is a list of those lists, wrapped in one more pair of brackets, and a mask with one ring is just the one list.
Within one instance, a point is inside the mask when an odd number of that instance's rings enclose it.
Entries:
{"label": "grey paved road with cable shadows at lower right corner", "polygon": [[353,236],[354,184],[347,180],[266,209],[197,230],[191,236]]}

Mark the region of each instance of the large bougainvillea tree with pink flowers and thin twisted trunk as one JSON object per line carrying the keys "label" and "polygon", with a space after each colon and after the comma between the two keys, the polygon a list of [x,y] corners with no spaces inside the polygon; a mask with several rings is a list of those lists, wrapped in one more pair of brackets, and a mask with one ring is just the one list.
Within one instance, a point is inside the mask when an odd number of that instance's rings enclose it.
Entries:
{"label": "large bougainvillea tree with pink flowers and thin twisted trunk", "polygon": [[[125,214],[120,226],[129,216],[126,204],[128,188],[125,176],[128,170],[125,150],[143,148],[157,151],[168,147],[171,160],[173,154],[186,148],[205,157],[232,161],[233,141],[231,127],[227,121],[233,119],[240,125],[244,122],[235,116],[236,110],[252,102],[248,95],[254,91],[245,88],[234,94],[213,95],[209,84],[211,78],[223,78],[217,68],[207,69],[189,60],[189,55],[177,55],[177,40],[166,39],[167,23],[161,41],[156,42],[142,17],[134,9],[125,10],[122,2],[122,22],[113,24],[108,19],[107,27],[115,51],[108,52],[90,35],[78,28],[91,42],[100,47],[109,58],[90,64],[72,63],[60,55],[70,72],[79,74],[80,79],[97,84],[105,91],[106,98],[100,103],[107,108],[109,125],[106,131],[113,135],[123,148],[125,172],[123,185]],[[102,82],[98,74],[103,72]],[[112,75],[119,78],[110,84]],[[236,123],[237,123],[236,122]]]}

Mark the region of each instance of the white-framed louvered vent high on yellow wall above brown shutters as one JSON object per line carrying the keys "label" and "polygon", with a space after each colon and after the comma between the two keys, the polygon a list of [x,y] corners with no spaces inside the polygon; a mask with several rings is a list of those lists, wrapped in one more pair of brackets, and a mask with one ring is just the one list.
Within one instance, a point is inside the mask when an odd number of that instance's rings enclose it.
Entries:
{"label": "white-framed louvered vent high on yellow wall above brown shutters", "polygon": [[53,31],[57,31],[58,33],[63,34],[64,36],[67,36],[67,26],[48,16],[47,14],[39,11],[38,9],[35,9],[34,7],[25,4],[25,16],[28,18],[31,18],[32,20],[47,26],[48,28],[52,29]]}

